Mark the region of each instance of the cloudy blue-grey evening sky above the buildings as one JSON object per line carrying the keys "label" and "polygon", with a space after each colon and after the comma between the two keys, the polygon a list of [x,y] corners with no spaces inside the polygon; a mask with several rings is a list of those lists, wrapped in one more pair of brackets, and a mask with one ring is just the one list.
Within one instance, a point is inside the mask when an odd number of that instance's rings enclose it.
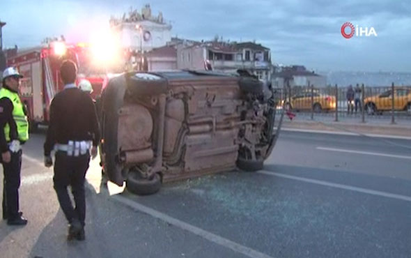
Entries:
{"label": "cloudy blue-grey evening sky above the buildings", "polygon": [[[31,47],[49,36],[87,41],[130,7],[150,3],[194,40],[253,41],[269,47],[277,64],[310,70],[411,72],[411,1],[399,0],[13,0],[1,1],[3,46]],[[373,27],[377,36],[341,35],[344,22]],[[349,32],[346,30],[346,32]]]}

